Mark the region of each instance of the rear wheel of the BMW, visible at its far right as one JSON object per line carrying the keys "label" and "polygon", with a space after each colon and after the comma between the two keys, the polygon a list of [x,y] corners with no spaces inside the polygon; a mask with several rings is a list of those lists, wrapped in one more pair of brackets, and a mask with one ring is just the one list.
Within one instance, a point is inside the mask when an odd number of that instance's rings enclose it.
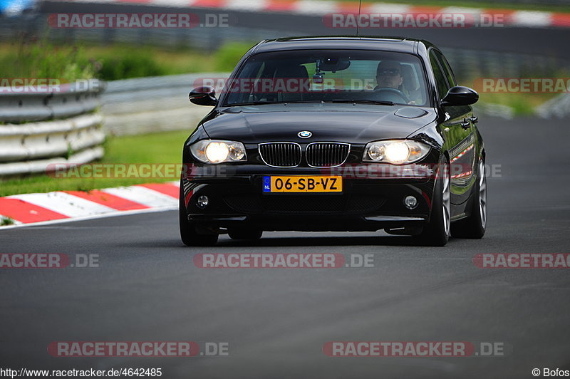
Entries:
{"label": "rear wheel of the BMW, visible at its far right", "polygon": [[474,187],[469,217],[454,222],[451,235],[456,238],[480,239],[487,229],[487,175],[485,165],[479,161],[477,183]]}

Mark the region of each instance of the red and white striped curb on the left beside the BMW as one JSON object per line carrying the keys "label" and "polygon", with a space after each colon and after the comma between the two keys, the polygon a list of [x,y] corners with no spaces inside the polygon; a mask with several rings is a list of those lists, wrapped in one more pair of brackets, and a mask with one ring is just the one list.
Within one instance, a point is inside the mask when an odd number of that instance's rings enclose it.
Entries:
{"label": "red and white striped curb on the left beside the BMW", "polygon": [[0,197],[0,218],[14,224],[46,224],[177,209],[179,182],[152,183],[103,190],[56,191]]}

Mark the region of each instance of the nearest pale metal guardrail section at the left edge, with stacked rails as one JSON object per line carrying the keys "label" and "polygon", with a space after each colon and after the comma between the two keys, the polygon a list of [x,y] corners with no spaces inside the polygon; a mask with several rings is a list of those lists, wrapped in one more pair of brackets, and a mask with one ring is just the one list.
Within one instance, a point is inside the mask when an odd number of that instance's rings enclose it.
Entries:
{"label": "nearest pale metal guardrail section at the left edge, with stacked rails", "polygon": [[43,172],[54,162],[103,157],[103,82],[81,81],[38,92],[0,87],[0,176]]}

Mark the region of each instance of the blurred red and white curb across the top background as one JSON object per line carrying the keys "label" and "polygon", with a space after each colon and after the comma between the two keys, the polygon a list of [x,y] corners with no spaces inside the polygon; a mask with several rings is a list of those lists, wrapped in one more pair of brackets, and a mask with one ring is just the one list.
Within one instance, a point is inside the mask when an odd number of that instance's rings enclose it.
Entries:
{"label": "blurred red and white curb across the top background", "polygon": [[[227,11],[301,14],[325,16],[338,13],[358,13],[358,1],[326,0],[62,0],[101,4],[142,4],[177,8],[204,8]],[[414,6],[395,3],[363,3],[362,14],[456,14],[473,16],[500,15],[507,26],[527,28],[570,27],[570,13],[517,11],[514,9],[477,9],[458,6]]]}

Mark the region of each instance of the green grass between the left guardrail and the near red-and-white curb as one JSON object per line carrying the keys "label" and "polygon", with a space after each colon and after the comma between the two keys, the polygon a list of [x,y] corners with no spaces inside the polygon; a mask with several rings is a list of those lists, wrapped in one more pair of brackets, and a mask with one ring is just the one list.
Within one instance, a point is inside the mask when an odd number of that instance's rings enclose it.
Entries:
{"label": "green grass between the left guardrail and the near red-and-white curb", "polygon": [[[105,164],[180,164],[182,145],[190,130],[112,137],[105,142],[105,157],[94,163]],[[18,179],[0,180],[0,196],[51,191],[88,191],[99,188],[137,185],[148,182],[168,182],[175,178],[55,178],[32,175]]]}

